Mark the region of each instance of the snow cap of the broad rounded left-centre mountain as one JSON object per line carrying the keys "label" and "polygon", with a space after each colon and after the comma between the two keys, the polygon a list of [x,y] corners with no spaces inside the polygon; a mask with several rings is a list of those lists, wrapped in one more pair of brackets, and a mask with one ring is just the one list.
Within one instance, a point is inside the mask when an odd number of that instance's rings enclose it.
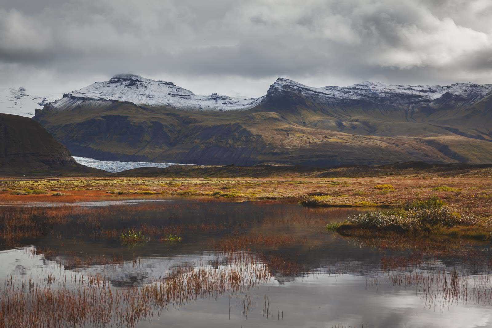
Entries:
{"label": "snow cap of the broad rounded left-centre mountain", "polygon": [[83,99],[130,101],[137,105],[170,106],[178,109],[245,110],[256,106],[262,98],[229,97],[226,95],[196,95],[172,82],[154,81],[134,74],[118,74],[109,81],[96,82],[63,95],[51,104],[66,109]]}

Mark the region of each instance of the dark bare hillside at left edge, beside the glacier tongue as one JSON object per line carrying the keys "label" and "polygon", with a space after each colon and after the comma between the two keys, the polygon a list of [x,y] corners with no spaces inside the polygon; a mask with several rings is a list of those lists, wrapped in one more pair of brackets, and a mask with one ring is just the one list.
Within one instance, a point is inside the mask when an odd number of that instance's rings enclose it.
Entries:
{"label": "dark bare hillside at left edge, beside the glacier tongue", "polygon": [[0,173],[76,169],[68,149],[36,121],[0,114]]}

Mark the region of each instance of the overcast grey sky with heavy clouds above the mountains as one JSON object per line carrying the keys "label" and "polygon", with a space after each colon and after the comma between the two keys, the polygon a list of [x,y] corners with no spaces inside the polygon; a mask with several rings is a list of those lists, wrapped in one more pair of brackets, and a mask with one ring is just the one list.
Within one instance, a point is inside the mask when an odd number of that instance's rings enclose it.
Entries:
{"label": "overcast grey sky with heavy clouds above the mountains", "polygon": [[0,0],[0,87],[492,83],[492,0]]}

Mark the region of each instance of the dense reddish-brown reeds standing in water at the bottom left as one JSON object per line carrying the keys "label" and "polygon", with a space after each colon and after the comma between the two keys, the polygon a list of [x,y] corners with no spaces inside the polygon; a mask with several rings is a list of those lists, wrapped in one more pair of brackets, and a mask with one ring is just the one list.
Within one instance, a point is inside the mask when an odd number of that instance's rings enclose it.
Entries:
{"label": "dense reddish-brown reeds standing in water at the bottom left", "polygon": [[[226,265],[179,267],[141,288],[116,289],[99,275],[66,277],[49,274],[42,282],[9,277],[0,290],[0,328],[66,326],[134,327],[152,319],[154,311],[181,307],[199,298],[235,295],[270,279],[268,268],[245,254],[232,255]],[[242,313],[251,296],[241,294]]]}

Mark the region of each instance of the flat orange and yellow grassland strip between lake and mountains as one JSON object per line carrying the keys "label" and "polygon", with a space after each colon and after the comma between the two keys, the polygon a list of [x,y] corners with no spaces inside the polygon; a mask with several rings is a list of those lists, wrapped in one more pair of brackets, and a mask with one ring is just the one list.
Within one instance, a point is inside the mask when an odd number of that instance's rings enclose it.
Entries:
{"label": "flat orange and yellow grassland strip between lake and mountains", "polygon": [[[490,171],[490,170],[489,170]],[[50,195],[34,195],[24,192],[30,190],[59,191],[70,195],[59,196],[57,202],[93,201],[130,197],[216,197],[223,200],[281,200],[303,201],[322,192],[334,196],[310,206],[357,206],[369,202],[377,206],[397,206],[409,198],[429,198],[435,192],[442,193],[446,202],[470,209],[473,213],[492,217],[492,180],[487,170],[476,174],[460,173],[453,177],[440,174],[404,175],[395,172],[394,176],[377,178],[49,178],[13,179],[0,181],[0,202],[39,202],[53,201]],[[361,171],[361,173],[364,173]],[[432,186],[429,186],[432,179]],[[298,183],[301,181],[302,183]],[[374,186],[391,185],[392,188],[374,189]],[[222,187],[233,189],[221,189]],[[459,192],[433,191],[432,187],[450,186]],[[107,191],[116,193],[107,193]],[[19,195],[11,195],[20,191]],[[120,192],[121,191],[121,192]],[[134,191],[137,193],[129,193]],[[142,193],[138,193],[138,191]],[[151,194],[151,193],[155,194]],[[218,193],[220,192],[220,194]],[[215,193],[215,196],[214,196]],[[220,195],[224,196],[220,196]],[[22,195],[22,196],[21,196]],[[340,198],[337,195],[348,195]],[[416,196],[417,195],[417,196]],[[338,199],[339,198],[339,199]]]}

